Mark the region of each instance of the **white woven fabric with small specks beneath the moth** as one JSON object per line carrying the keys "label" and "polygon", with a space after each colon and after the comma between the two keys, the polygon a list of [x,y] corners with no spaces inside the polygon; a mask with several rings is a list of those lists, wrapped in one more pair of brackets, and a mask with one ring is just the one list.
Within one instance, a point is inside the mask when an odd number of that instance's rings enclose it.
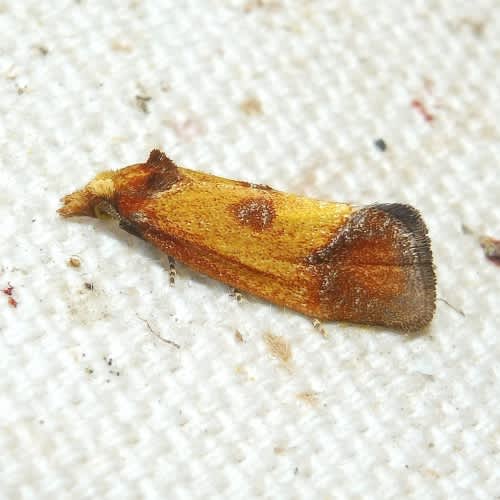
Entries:
{"label": "white woven fabric with small specks beneath the moth", "polygon": [[[497,0],[3,0],[0,32],[1,498],[500,494],[500,268],[462,230],[500,236]],[[458,311],[325,339],[180,264],[170,288],[147,244],[57,216],[153,147],[416,206]]]}

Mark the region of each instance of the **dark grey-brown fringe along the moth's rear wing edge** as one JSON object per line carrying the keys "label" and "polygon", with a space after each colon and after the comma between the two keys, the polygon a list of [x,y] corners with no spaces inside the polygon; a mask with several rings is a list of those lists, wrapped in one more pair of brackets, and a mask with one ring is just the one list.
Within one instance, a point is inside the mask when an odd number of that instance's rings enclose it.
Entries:
{"label": "dark grey-brown fringe along the moth's rear wing edge", "polygon": [[420,311],[412,319],[401,324],[402,330],[416,331],[425,328],[436,310],[436,274],[432,258],[431,240],[420,212],[411,205],[384,203],[373,205],[398,221],[411,235],[410,252],[419,270],[422,303]]}

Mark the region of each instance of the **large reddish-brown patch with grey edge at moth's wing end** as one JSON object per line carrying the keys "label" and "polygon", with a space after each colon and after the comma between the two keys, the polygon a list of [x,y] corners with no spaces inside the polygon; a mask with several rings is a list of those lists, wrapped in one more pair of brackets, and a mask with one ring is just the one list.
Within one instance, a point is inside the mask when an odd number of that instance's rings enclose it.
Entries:
{"label": "large reddish-brown patch with grey edge at moth's wing end", "polygon": [[355,212],[307,258],[321,278],[324,317],[417,330],[435,309],[435,275],[427,229],[408,205]]}

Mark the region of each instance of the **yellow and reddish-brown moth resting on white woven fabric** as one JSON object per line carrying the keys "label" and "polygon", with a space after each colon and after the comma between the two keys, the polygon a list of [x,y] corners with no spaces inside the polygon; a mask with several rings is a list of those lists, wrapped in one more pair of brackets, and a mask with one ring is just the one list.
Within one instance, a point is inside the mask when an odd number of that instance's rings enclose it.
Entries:
{"label": "yellow and reddish-brown moth resting on white woven fabric", "polygon": [[196,271],[313,318],[412,331],[434,314],[430,240],[409,205],[310,199],[153,150],[62,198],[59,213],[110,216]]}

